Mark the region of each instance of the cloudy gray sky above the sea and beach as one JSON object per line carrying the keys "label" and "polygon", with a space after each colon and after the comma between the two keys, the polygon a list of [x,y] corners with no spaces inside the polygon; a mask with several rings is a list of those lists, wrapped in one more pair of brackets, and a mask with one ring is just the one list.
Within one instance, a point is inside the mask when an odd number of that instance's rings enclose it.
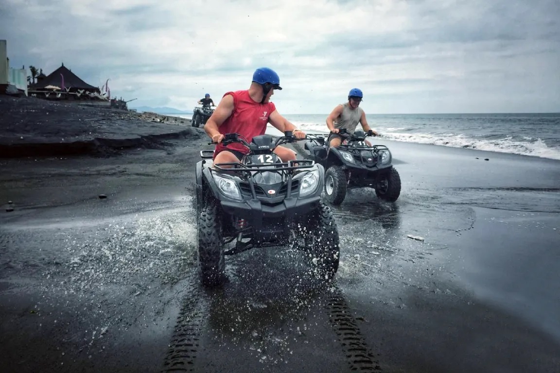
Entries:
{"label": "cloudy gray sky above the sea and beach", "polygon": [[[560,111],[558,0],[0,0],[12,67],[192,109],[273,68],[281,114]],[[131,103],[132,106],[132,103]]]}

